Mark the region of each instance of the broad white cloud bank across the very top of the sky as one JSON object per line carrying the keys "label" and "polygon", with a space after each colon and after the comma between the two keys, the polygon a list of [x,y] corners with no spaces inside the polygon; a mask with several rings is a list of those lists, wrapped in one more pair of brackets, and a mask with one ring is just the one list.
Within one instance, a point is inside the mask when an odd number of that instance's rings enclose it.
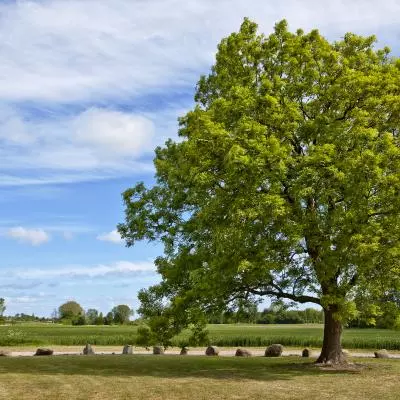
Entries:
{"label": "broad white cloud bank across the very top of the sky", "polygon": [[[47,0],[1,6],[0,98],[75,102],[193,85],[244,16],[265,31],[396,27],[397,0]],[[393,43],[395,40],[393,39]],[[16,79],[14,79],[16,78]]]}

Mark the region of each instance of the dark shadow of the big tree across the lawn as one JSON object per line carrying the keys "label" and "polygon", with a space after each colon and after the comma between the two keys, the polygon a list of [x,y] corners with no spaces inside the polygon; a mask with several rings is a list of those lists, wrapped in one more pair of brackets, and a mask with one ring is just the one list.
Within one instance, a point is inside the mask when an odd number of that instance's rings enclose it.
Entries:
{"label": "dark shadow of the big tree across the lawn", "polygon": [[[0,373],[86,376],[148,376],[221,380],[289,380],[326,374],[298,357],[95,355],[0,358]],[[329,371],[347,374],[347,371]]]}

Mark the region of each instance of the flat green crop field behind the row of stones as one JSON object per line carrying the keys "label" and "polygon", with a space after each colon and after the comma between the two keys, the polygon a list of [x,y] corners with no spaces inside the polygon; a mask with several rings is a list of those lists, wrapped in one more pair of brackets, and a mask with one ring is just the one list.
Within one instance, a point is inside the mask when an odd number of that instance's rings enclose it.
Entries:
{"label": "flat green crop field behind the row of stones", "polygon": [[[218,346],[322,345],[322,325],[209,325],[212,344]],[[0,346],[16,345],[124,345],[135,344],[135,326],[63,326],[51,324],[17,324],[0,326]],[[173,344],[186,343],[187,333],[174,338]],[[348,349],[400,350],[400,332],[386,329],[346,329],[343,346]]]}

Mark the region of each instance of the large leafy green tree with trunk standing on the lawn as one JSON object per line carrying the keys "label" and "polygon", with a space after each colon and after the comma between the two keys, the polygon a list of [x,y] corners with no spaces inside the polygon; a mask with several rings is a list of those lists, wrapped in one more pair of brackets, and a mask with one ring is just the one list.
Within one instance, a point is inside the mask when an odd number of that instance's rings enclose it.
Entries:
{"label": "large leafy green tree with trunk standing on the lawn", "polygon": [[127,245],[165,247],[144,315],[172,332],[238,298],[314,303],[318,361],[343,361],[356,294],[399,285],[400,62],[374,44],[248,19],[221,41],[155,185],[123,194]]}

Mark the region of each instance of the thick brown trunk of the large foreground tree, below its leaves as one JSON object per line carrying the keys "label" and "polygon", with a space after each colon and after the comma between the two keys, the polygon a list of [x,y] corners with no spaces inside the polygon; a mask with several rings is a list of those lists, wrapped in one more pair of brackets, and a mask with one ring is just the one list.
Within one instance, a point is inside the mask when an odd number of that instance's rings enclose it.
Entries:
{"label": "thick brown trunk of the large foreground tree, below its leaves", "polygon": [[346,362],[341,345],[342,323],[334,318],[335,311],[337,311],[336,305],[324,308],[324,341],[317,363],[343,364]]}

